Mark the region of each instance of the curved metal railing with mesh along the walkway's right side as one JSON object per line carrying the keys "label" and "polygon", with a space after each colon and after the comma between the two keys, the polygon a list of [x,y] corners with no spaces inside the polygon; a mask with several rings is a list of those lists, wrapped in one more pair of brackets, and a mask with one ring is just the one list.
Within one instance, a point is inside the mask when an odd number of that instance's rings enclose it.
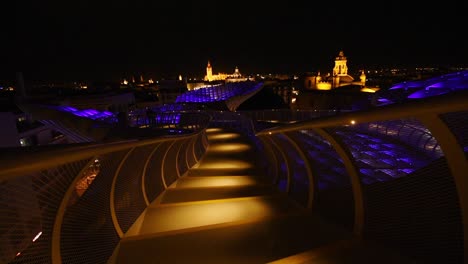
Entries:
{"label": "curved metal railing with mesh along the walkway's right side", "polygon": [[256,135],[278,188],[312,211],[424,263],[467,263],[467,92]]}

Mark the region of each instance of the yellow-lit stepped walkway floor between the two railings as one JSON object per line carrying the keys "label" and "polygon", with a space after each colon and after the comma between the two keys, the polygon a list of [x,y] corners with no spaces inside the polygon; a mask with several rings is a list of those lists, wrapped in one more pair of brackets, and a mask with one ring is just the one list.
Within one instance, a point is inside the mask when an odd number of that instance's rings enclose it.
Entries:
{"label": "yellow-lit stepped walkway floor between the two railings", "polygon": [[125,234],[116,263],[345,263],[337,259],[339,252],[356,263],[375,261],[350,253],[357,247],[350,246],[348,232],[311,215],[262,180],[246,138],[212,128],[208,140],[197,166]]}

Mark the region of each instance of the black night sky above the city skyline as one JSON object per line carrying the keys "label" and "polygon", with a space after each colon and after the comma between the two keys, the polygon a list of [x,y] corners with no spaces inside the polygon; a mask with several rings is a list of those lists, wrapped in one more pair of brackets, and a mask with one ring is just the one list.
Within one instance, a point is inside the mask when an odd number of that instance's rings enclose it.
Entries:
{"label": "black night sky above the city skyline", "polygon": [[[67,0],[16,3],[2,74],[33,79],[468,64],[463,1]],[[14,65],[14,69],[12,69]],[[3,77],[6,78],[6,77]]]}

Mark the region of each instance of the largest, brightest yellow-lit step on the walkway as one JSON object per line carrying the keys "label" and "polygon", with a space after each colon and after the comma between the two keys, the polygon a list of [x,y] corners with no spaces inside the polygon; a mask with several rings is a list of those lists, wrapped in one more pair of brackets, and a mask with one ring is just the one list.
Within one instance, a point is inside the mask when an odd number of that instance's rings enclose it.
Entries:
{"label": "largest, brightest yellow-lit step on the walkway", "polygon": [[147,235],[248,219],[274,217],[302,209],[283,196],[254,196],[171,204],[151,204],[128,235]]}

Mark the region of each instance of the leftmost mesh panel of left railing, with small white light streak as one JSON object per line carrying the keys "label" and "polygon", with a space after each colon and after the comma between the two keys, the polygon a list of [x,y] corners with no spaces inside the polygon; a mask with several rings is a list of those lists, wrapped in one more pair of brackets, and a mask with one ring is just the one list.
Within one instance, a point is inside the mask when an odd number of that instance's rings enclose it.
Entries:
{"label": "leftmost mesh panel of left railing, with small white light streak", "polygon": [[1,262],[50,263],[55,216],[81,168],[79,161],[0,185]]}

